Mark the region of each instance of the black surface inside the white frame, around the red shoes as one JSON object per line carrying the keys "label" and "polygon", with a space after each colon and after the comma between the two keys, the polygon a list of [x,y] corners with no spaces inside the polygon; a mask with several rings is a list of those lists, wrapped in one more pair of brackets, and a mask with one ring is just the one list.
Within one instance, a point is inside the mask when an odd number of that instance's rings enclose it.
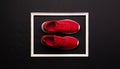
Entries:
{"label": "black surface inside the white frame, around the red shoes", "polygon": [[[75,34],[63,34],[63,33],[45,33],[41,29],[41,25],[45,21],[49,20],[63,20],[71,19],[79,23],[81,29]],[[35,54],[85,54],[85,16],[35,16]],[[72,36],[79,40],[79,45],[73,50],[58,50],[50,47],[46,47],[41,43],[41,37],[44,35],[58,35],[58,36]]]}

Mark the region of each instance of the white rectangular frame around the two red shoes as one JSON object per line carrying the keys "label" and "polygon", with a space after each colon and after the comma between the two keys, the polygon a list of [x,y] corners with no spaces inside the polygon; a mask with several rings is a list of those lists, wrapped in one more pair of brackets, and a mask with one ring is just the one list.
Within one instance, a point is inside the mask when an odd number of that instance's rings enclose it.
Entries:
{"label": "white rectangular frame around the two red shoes", "polygon": [[[85,16],[86,23],[86,51],[85,54],[34,54],[34,16]],[[89,13],[72,12],[72,13],[48,13],[48,12],[31,12],[31,57],[88,57],[89,56]]]}

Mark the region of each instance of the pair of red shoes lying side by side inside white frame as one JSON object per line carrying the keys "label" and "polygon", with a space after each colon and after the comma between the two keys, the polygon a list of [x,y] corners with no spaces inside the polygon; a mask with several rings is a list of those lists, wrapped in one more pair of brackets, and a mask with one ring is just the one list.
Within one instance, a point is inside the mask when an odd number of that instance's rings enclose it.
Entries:
{"label": "pair of red shoes lying side by side inside white frame", "polygon": [[[42,24],[42,30],[46,33],[61,32],[64,34],[73,34],[80,30],[80,25],[76,21],[70,19],[51,20]],[[41,42],[49,47],[61,50],[71,50],[78,46],[79,40],[71,36],[44,35]]]}

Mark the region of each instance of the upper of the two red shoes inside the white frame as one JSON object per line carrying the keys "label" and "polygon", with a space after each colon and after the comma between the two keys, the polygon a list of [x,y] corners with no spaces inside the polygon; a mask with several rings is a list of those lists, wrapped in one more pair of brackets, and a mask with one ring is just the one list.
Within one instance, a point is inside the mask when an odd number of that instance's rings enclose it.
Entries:
{"label": "upper of the two red shoes inside the white frame", "polygon": [[79,23],[70,19],[51,20],[42,24],[42,30],[48,33],[62,32],[65,34],[73,34],[80,30],[80,25]]}

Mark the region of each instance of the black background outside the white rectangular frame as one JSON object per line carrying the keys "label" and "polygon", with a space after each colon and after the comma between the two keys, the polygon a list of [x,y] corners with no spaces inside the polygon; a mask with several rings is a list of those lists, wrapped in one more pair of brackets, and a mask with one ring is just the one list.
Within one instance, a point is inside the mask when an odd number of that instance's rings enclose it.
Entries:
{"label": "black background outside the white rectangular frame", "polygon": [[[7,67],[15,69],[119,69],[119,0],[8,0],[2,1],[3,45]],[[31,58],[30,12],[89,12],[88,58]],[[1,33],[1,34],[2,34]],[[5,50],[5,51],[4,51]],[[7,56],[6,56],[7,54]],[[6,60],[5,58],[3,60]]]}

